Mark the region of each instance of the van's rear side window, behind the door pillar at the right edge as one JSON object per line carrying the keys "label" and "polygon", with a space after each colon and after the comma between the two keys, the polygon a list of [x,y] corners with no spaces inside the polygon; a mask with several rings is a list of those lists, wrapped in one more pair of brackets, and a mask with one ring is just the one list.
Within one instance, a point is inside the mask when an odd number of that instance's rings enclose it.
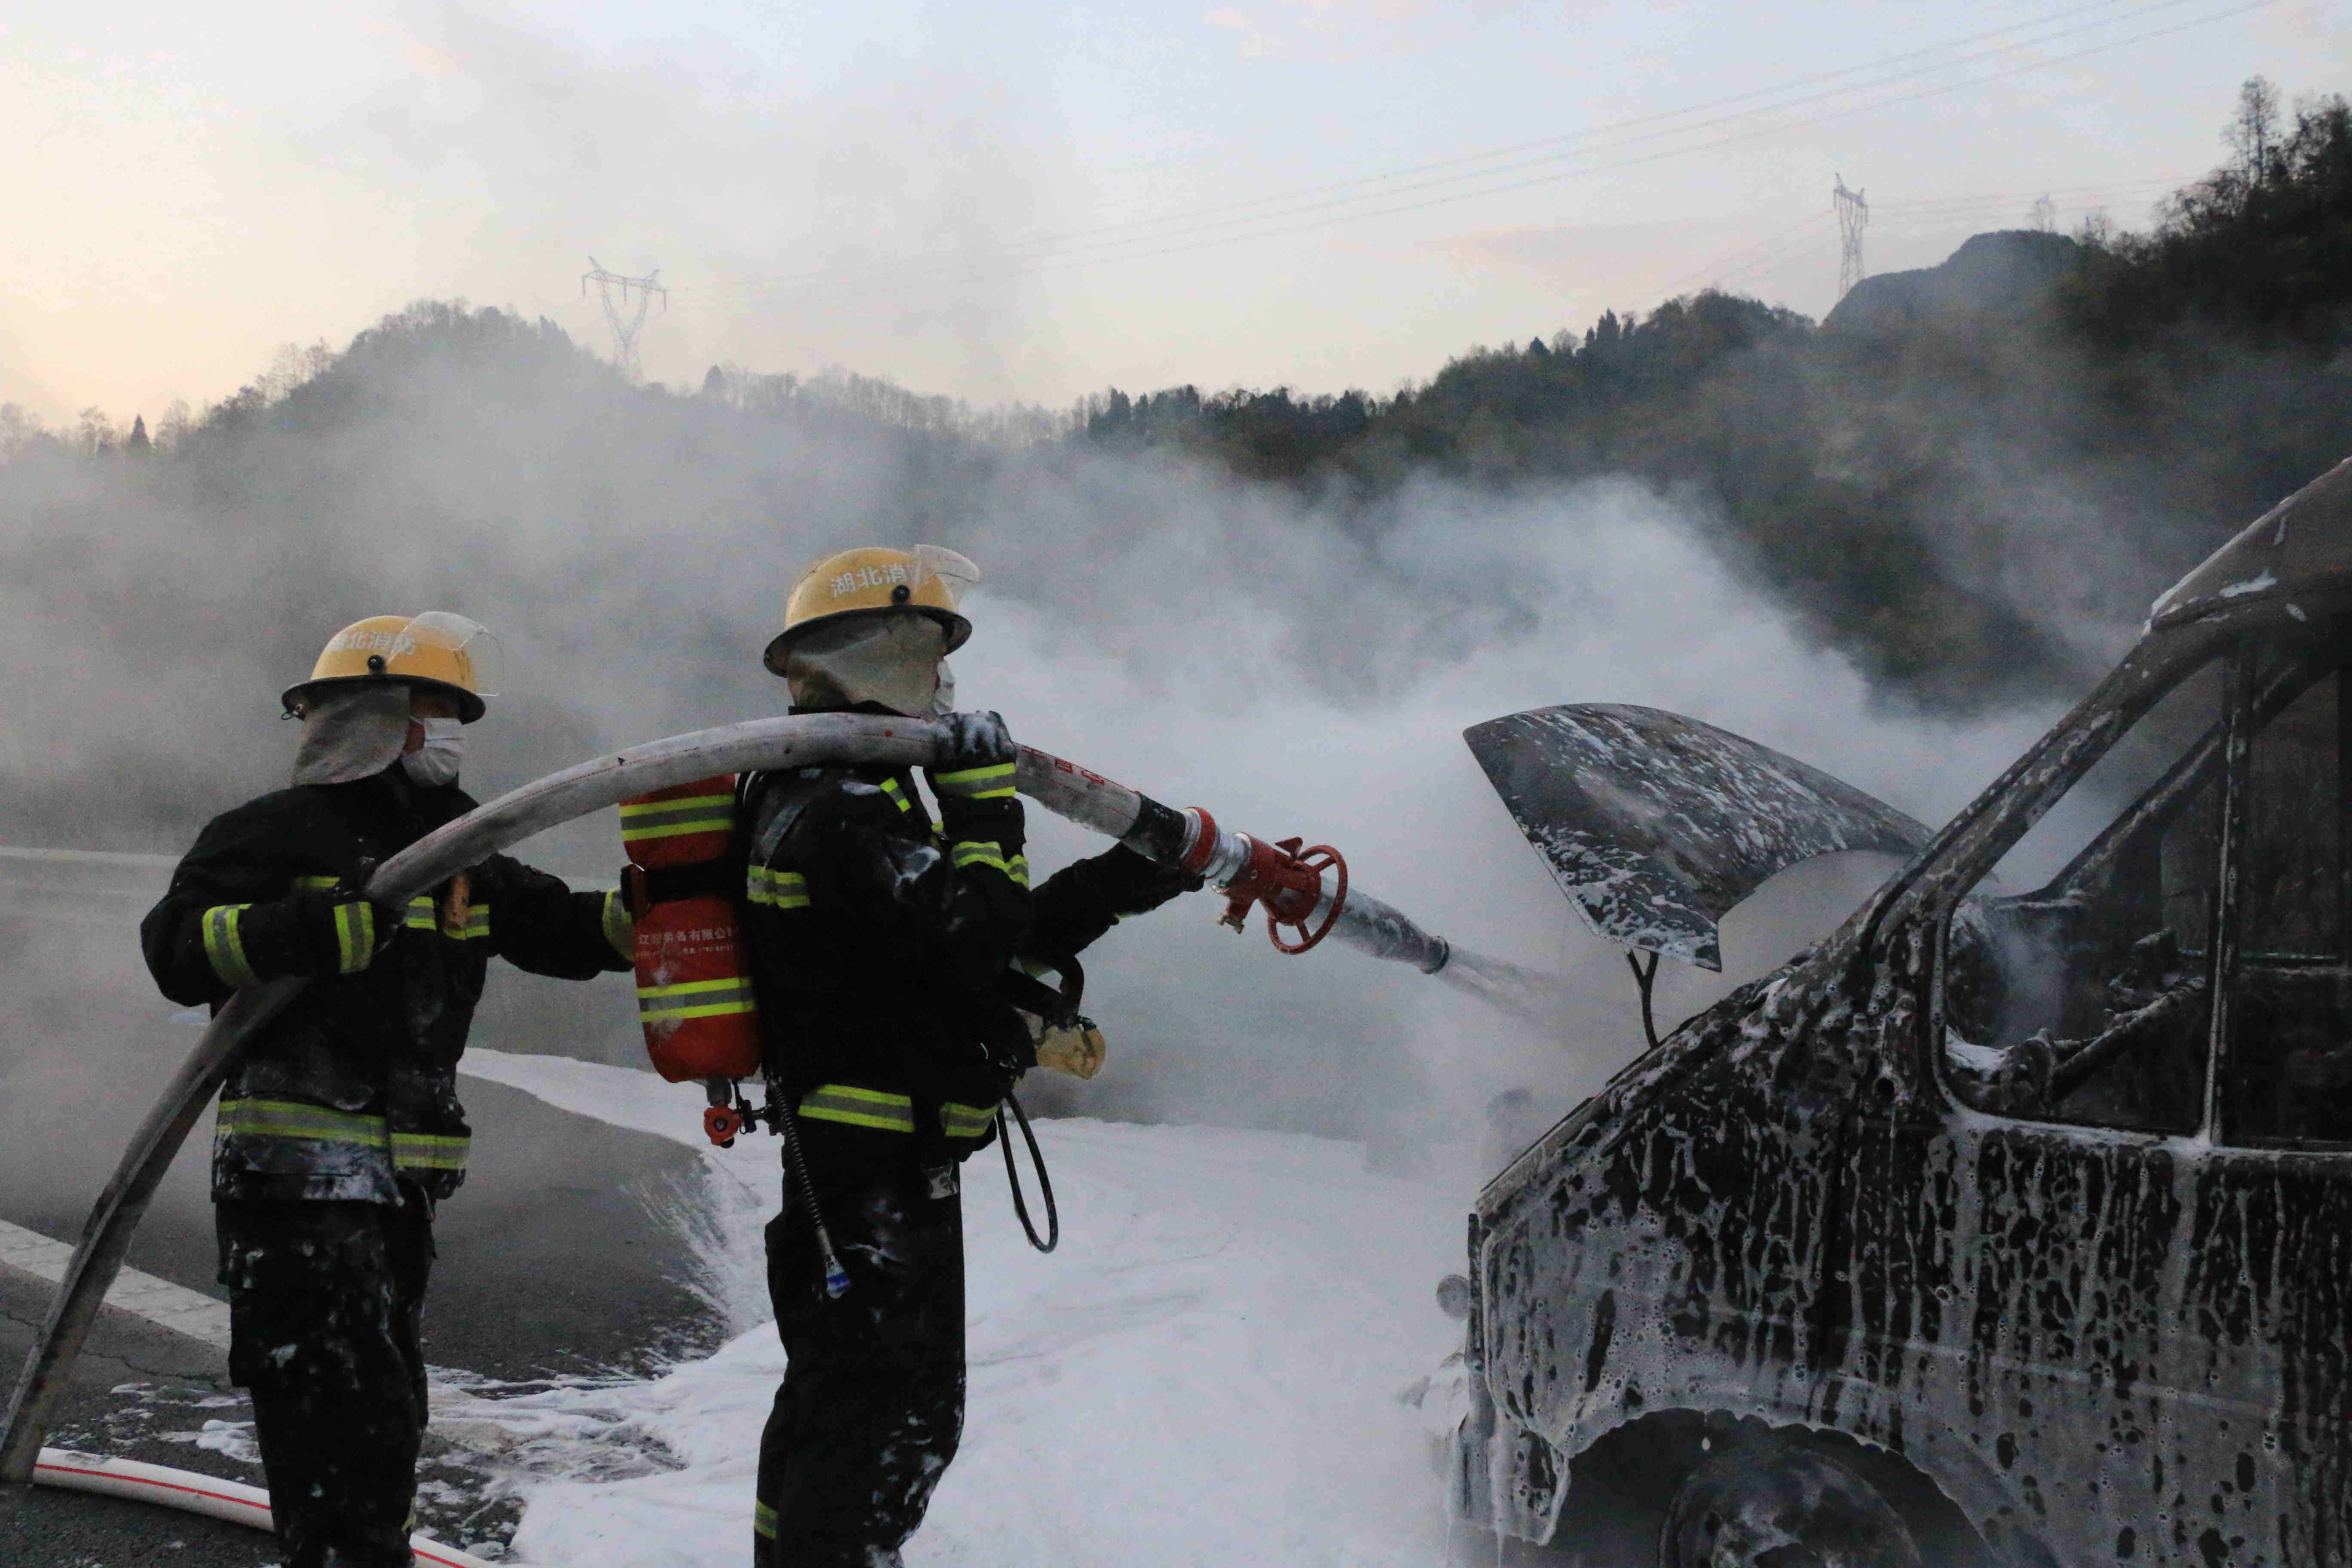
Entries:
{"label": "van's rear side window, behind the door pillar at the right edge", "polygon": [[2310,679],[2281,665],[2260,708],[2274,717],[2256,729],[2246,766],[2220,1133],[2225,1143],[2352,1147],[2343,670]]}

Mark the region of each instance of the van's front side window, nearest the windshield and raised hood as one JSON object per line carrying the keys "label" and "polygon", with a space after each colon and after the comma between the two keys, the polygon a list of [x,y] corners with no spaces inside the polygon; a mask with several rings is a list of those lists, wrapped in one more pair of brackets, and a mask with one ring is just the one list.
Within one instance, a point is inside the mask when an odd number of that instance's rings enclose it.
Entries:
{"label": "van's front side window, nearest the windshield and raised hood", "polygon": [[2206,665],[1959,903],[1943,1011],[1962,1100],[2079,1126],[2201,1126],[2223,741],[2223,677]]}

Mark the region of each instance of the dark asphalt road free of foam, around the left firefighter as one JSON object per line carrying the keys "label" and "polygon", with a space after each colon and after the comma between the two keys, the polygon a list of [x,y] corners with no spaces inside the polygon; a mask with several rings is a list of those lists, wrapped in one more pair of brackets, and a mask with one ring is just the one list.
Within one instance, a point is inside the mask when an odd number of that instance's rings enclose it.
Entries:
{"label": "dark asphalt road free of foam, around the left firefighter", "polygon": [[[73,1241],[132,1126],[198,1039],[172,1020],[176,1009],[139,961],[136,922],[162,877],[153,863],[0,853],[0,1220]],[[633,1048],[628,976],[564,987],[496,966],[492,992],[475,1044],[597,1060]],[[473,1159],[435,1225],[433,1366],[520,1382],[642,1371],[715,1345],[720,1324],[691,1288],[694,1258],[649,1206],[699,1182],[687,1150],[482,1079],[463,1079],[461,1093]],[[219,1298],[207,1143],[209,1117],[158,1190],[129,1265]],[[0,1387],[21,1375],[49,1291],[0,1265]],[[259,1486],[240,1429],[249,1420],[219,1349],[106,1309],[49,1443]],[[470,1455],[445,1448],[426,1474],[423,1523],[494,1554],[513,1514],[485,1495]],[[238,1526],[0,1488],[5,1568],[273,1561],[268,1537]]]}

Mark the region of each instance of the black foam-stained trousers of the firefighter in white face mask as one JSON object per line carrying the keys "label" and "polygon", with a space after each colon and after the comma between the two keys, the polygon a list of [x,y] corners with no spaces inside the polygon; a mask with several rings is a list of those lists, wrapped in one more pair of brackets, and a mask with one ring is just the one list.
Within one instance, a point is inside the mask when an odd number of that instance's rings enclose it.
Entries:
{"label": "black foam-stained trousers of the firefighter in white face mask", "polygon": [[433,1211],[407,1197],[214,1211],[228,1373],[254,1396],[285,1568],[412,1561]]}

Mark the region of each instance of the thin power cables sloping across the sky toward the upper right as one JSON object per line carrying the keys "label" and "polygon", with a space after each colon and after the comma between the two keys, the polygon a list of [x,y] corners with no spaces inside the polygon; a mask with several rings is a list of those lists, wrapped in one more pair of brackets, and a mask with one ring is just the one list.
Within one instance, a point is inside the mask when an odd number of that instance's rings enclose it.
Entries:
{"label": "thin power cables sloping across the sky toward the upper right", "polygon": [[[1609,136],[1616,136],[1613,143],[1597,148],[1599,153],[1606,153],[1606,150],[1613,150],[1613,148],[1639,146],[1644,141],[1658,141],[1658,139],[1668,139],[1668,136],[1686,136],[1691,132],[1700,132],[1700,129],[1710,129],[1710,127],[1738,125],[1743,120],[1752,122],[1759,115],[1785,115],[1788,110],[1802,108],[1802,106],[1809,106],[1809,103],[1835,101],[1835,99],[1842,99],[1842,96],[1875,92],[1875,89],[1882,89],[1882,87],[1896,87],[1896,85],[1900,85],[1905,80],[1917,80],[1922,75],[1931,75],[1931,73],[1938,73],[1938,71],[1952,71],[1952,68],[1959,68],[1959,66],[1969,66],[1969,63],[1980,63],[1980,61],[1987,61],[1987,59],[1997,59],[1997,56],[2004,56],[2004,54],[2016,54],[2020,49],[2046,45],[2046,42],[2051,42],[2056,38],[2074,35],[2074,33],[2082,33],[2082,31],[2089,31],[2089,28],[2096,28],[2096,26],[2129,24],[2129,21],[2136,21],[2136,19],[2143,19],[2143,16],[2152,16],[2152,14],[2164,12],[2164,9],[2178,9],[2180,5],[2190,5],[2190,2],[2192,0],[2154,0],[2152,5],[2138,5],[2138,7],[2126,9],[2122,14],[2103,16],[2098,21],[2079,24],[2079,26],[2072,26],[2072,28],[2046,28],[2044,26],[2044,31],[2039,35],[2034,35],[2034,38],[2013,40],[2013,42],[1999,45],[1994,49],[1985,49],[1985,52],[1978,52],[1978,54],[1959,56],[1959,59],[1945,59],[1945,61],[1938,61],[1938,63],[1933,63],[1929,68],[1900,71],[1900,73],[1882,75],[1882,78],[1875,78],[1875,80],[1867,80],[1867,82],[1856,82],[1856,85],[1849,85],[1849,87],[1839,87],[1839,89],[1830,89],[1830,92],[1818,92],[1818,94],[1809,94],[1809,96],[1802,96],[1802,99],[1790,99],[1785,103],[1773,103],[1773,106],[1757,108],[1757,110],[1743,110],[1743,113],[1736,113],[1736,115],[1719,115],[1715,120],[1700,120],[1700,122],[1677,125],[1677,127],[1670,127],[1670,129],[1646,132],[1646,134],[1639,134],[1639,136],[1623,136],[1618,132],[1623,127],[1630,127],[1630,125],[1644,125],[1644,122],[1656,122],[1656,120],[1675,120],[1675,118],[1684,118],[1686,120],[1691,113],[1700,113],[1703,108],[1712,108],[1712,103],[1710,106],[1698,106],[1698,108],[1691,108],[1691,110],[1677,110],[1672,115],[1646,115],[1642,120],[1630,120],[1630,122],[1623,122],[1618,127],[1602,127],[1602,129],[1595,129],[1595,132],[1581,132],[1576,136],[1564,136],[1564,139],[1555,139],[1555,141],[1604,141]],[[1851,115],[1858,115],[1858,113],[1875,113],[1875,110],[1882,110],[1882,108],[1893,108],[1893,106],[1919,101],[1919,99],[1929,99],[1929,96],[1962,92],[1962,89],[1969,89],[1969,87],[1983,87],[1983,85],[1990,85],[1990,82],[1997,82],[1997,80],[2006,80],[2011,75],[2023,75],[2027,71],[2046,71],[2046,68],[2063,66],[2063,63],[2070,63],[2070,61],[2077,61],[2077,59],[2086,59],[2091,54],[2105,54],[2110,49],[2122,49],[2122,47],[2129,47],[2129,45],[2136,45],[2136,42],[2147,42],[2147,40],[2154,40],[2154,38],[2169,38],[2169,35],[2183,33],[2187,28],[2211,26],[2216,21],[2227,21],[2232,16],[2241,16],[2246,12],[2263,9],[2263,7],[2274,5],[2274,2],[2277,0],[2251,0],[2246,5],[2234,5],[2234,7],[2227,7],[2223,12],[2197,16],[2197,19],[2190,19],[2190,21],[2171,26],[2171,28],[2154,28],[2154,31],[2145,31],[2145,33],[2133,33],[2129,38],[2112,38],[2112,40],[2091,45],[2086,49],[2077,49],[2072,54],[2023,61],[2018,66],[2011,66],[2011,68],[2004,68],[2004,71],[1983,73],[1983,75],[1976,75],[1976,78],[1969,78],[1969,80],[1962,80],[1962,82],[1945,82],[1945,85],[1938,85],[1938,87],[1924,87],[1924,89],[1907,92],[1907,94],[1882,96],[1882,99],[1863,101],[1863,103],[1849,103],[1844,108],[1832,108],[1828,113],[1795,118],[1795,120],[1783,118],[1783,120],[1773,120],[1773,122],[1766,122],[1766,125],[1750,125],[1748,129],[1738,129],[1738,132],[1733,132],[1729,136],[1715,136],[1715,139],[1705,139],[1705,141],[1696,141],[1696,143],[1686,143],[1686,146],[1675,146],[1675,148],[1665,148],[1665,150],[1658,150],[1658,153],[1646,153],[1646,155],[1637,155],[1637,158],[1625,158],[1625,160],[1616,160],[1616,162],[1588,162],[1583,167],[1555,169],[1555,172],[1548,172],[1548,174],[1541,174],[1541,176],[1534,176],[1534,179],[1524,179],[1524,181],[1512,181],[1512,183],[1486,183],[1486,186],[1479,186],[1479,188],[1461,188],[1461,186],[1470,186],[1472,181],[1494,181],[1496,176],[1503,176],[1503,174],[1512,174],[1512,172],[1522,172],[1522,169],[1531,169],[1531,167],[1541,167],[1541,165],[1550,165],[1550,162],[1562,162],[1566,158],[1573,158],[1573,153],[1566,153],[1566,150],[1562,150],[1562,153],[1548,153],[1543,158],[1522,160],[1517,165],[1498,165],[1498,167],[1475,169],[1475,172],[1468,172],[1468,174],[1428,179],[1428,181],[1418,181],[1418,183],[1409,183],[1409,186],[1402,186],[1402,188],[1395,188],[1395,190],[1381,190],[1381,193],[1371,193],[1371,195],[1331,197],[1331,200],[1315,200],[1315,202],[1294,200],[1294,197],[1305,197],[1305,195],[1312,195],[1312,193],[1319,193],[1319,190],[1338,190],[1338,188],[1352,188],[1352,186],[1359,186],[1359,183],[1369,183],[1369,181],[1336,181],[1336,183],[1329,183],[1329,186],[1312,186],[1312,188],[1305,188],[1305,190],[1298,190],[1298,193],[1291,193],[1291,195],[1261,197],[1256,202],[1232,202],[1232,205],[1225,205],[1225,207],[1197,209],[1197,212],[1190,212],[1190,214],[1171,214],[1171,216],[1164,216],[1164,219],[1145,219],[1145,221],[1138,221],[1138,223],[1115,223],[1115,226],[1094,228],[1094,230],[1075,230],[1075,233],[1068,233],[1068,235],[1042,235],[1042,237],[1035,237],[1035,240],[1007,242],[1007,244],[1000,244],[1000,247],[985,247],[978,254],[964,252],[964,254],[960,254],[955,259],[948,259],[948,261],[938,261],[938,263],[929,263],[929,266],[908,266],[908,268],[896,268],[896,270],[887,270],[887,273],[870,273],[870,275],[863,275],[863,277],[828,277],[826,273],[802,273],[802,275],[793,275],[793,277],[736,280],[736,282],[729,282],[729,284],[710,284],[710,287],[696,289],[696,294],[703,294],[703,296],[727,294],[727,292],[734,292],[734,294],[776,294],[776,292],[837,294],[842,289],[873,292],[875,284],[898,284],[898,282],[957,282],[957,280],[964,280],[964,277],[1033,275],[1033,273],[1042,273],[1042,270],[1065,270],[1068,266],[1091,266],[1091,263],[1098,263],[1098,261],[1138,261],[1138,259],[1150,259],[1150,256],[1167,256],[1167,254],[1181,254],[1181,252],[1190,252],[1190,249],[1202,249],[1202,247],[1209,247],[1209,244],[1235,244],[1235,242],[1247,242],[1247,240],[1265,240],[1265,237],[1277,237],[1277,235],[1289,235],[1289,233],[1303,233],[1303,230],[1310,230],[1310,228],[1329,228],[1334,223],[1348,223],[1348,221],[1362,221],[1362,219],[1374,219],[1374,216],[1395,216],[1395,214],[1406,214],[1406,212],[1421,212],[1421,209],[1428,209],[1428,207],[1451,205],[1451,202],[1461,202],[1461,200],[1475,200],[1475,197],[1484,197],[1484,195],[1503,195],[1503,193],[1512,193],[1512,190],[1526,190],[1526,188],[1534,188],[1534,186],[1557,183],[1557,181],[1564,181],[1564,179],[1578,179],[1578,176],[1585,176],[1585,174],[1599,174],[1599,172],[1609,172],[1609,169],[1625,169],[1625,167],[1635,167],[1635,165],[1644,165],[1644,162],[1658,162],[1663,158],[1679,158],[1679,155],[1689,155],[1689,153],[1698,153],[1698,150],[1712,150],[1712,148],[1719,148],[1719,146],[1731,146],[1731,143],[1738,143],[1738,141],[1752,141],[1757,136],[1769,136],[1769,134],[1778,134],[1778,132],[1785,132],[1785,129],[1797,129],[1802,125],[1818,125],[1818,122],[1825,122],[1825,120],[1851,118]],[[2096,12],[2096,9],[2112,9],[2112,5],[2093,5],[2093,7],[2082,7],[2077,12],[2063,12],[2053,21],[2063,21],[2063,19],[2079,16],[2084,12]],[[1903,59],[1917,59],[1917,56],[1924,56],[1924,54],[1950,52],[1952,47],[1962,47],[1962,45],[1976,42],[1980,38],[1987,38],[1987,35],[1971,35],[1971,38],[1964,38],[1964,40],[1955,40],[1950,45],[1938,45],[1938,47],[1931,47],[1931,49],[1915,49],[1915,52],[1903,54],[1903,56],[1891,56],[1891,61],[1903,61]],[[1788,92],[1790,87],[1806,85],[1806,82],[1813,82],[1813,80],[1828,80],[1832,75],[1853,75],[1853,73],[1860,73],[1860,71],[1872,71],[1872,68],[1879,68],[1879,66],[1891,63],[1891,61],[1875,61],[1870,66],[1856,66],[1856,68],[1849,68],[1844,73],[1828,73],[1823,78],[1804,78],[1802,82],[1790,82],[1790,85],[1783,85],[1783,87],[1757,89],[1757,92],[1750,92],[1750,94],[1738,94],[1736,99],[1719,99],[1717,103],[1731,103],[1731,101],[1740,101],[1740,99],[1769,96],[1773,92]],[[1522,143],[1522,148],[1524,146],[1550,146],[1550,143]],[[1503,155],[1510,148],[1498,150],[1498,153],[1470,155],[1470,158],[1494,160],[1494,158],[1498,158],[1498,155]],[[1465,162],[1465,160],[1449,160],[1449,162]],[[1444,167],[1444,165],[1423,165],[1423,169],[1430,169],[1430,167]],[[1371,176],[1371,181],[1395,181],[1395,179],[1404,179],[1406,174],[1411,174],[1411,172]],[[1418,202],[1395,202],[1395,197],[1399,197],[1399,195],[1414,195],[1418,190],[1446,190],[1446,188],[1454,188],[1454,190],[1446,193],[1446,195],[1435,195],[1435,197],[1418,200]],[[1388,202],[1388,205],[1371,207],[1371,209],[1359,209],[1359,212],[1331,212],[1331,209],[1341,209],[1341,207],[1355,207],[1355,205],[1367,202],[1367,200],[1381,200],[1381,202]],[[1289,205],[1284,207],[1282,202],[1289,202]],[[1244,209],[1244,207],[1268,207],[1268,205],[1272,205],[1275,209],[1272,212],[1256,212],[1256,214],[1249,214],[1249,216],[1228,216],[1228,219],[1211,221],[1211,223],[1200,223],[1197,221],[1197,219],[1204,219],[1204,216],[1218,214],[1218,212],[1237,212],[1237,209]],[[1317,212],[1331,212],[1331,216],[1310,219],[1305,223],[1289,223],[1284,228],[1263,228],[1265,223],[1282,223],[1284,219],[1296,219],[1296,216],[1317,214]],[[1169,226],[1181,226],[1181,228],[1169,228]],[[1251,228],[1251,226],[1258,226],[1258,228],[1254,228],[1254,233],[1218,233],[1218,230]],[[1150,228],[1164,228],[1167,233],[1141,233],[1141,230],[1150,230]],[[1122,237],[1098,237],[1098,235],[1122,235]],[[1183,240],[1188,240],[1192,235],[1216,235],[1216,237],[1202,237],[1202,240],[1183,242]],[[1178,244],[1169,244],[1169,242],[1178,242]],[[1157,247],[1157,249],[1141,249],[1141,252],[1131,249],[1131,247],[1138,247],[1138,244]],[[1049,247],[1063,247],[1063,254],[1051,254]],[[1018,252],[1023,252],[1023,249],[1044,249],[1047,254],[1021,256]],[[1089,252],[1115,252],[1115,254],[1094,254],[1094,256],[1089,256]],[[1002,256],[1004,266],[997,268],[997,270],[993,270],[993,273],[990,270],[974,270],[978,266],[985,266],[985,261],[990,256]],[[687,289],[680,289],[680,294],[687,294]]]}

